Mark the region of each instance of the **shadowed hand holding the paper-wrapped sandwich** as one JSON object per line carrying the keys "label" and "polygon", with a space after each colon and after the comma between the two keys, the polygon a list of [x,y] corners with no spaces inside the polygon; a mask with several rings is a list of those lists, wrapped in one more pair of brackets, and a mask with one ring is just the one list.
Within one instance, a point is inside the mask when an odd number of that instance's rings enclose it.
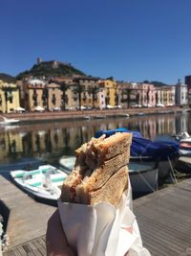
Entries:
{"label": "shadowed hand holding the paper-wrapped sandwich", "polygon": [[47,256],[74,256],[73,250],[67,244],[58,210],[48,221],[46,247]]}

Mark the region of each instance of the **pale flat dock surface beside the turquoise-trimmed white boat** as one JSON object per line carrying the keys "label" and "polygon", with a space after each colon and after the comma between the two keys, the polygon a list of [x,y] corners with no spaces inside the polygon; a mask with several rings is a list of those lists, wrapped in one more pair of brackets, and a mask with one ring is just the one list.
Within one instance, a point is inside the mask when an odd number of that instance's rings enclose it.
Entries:
{"label": "pale flat dock surface beside the turquoise-trimmed white boat", "polygon": [[[0,175],[0,201],[4,202],[10,211],[7,226],[8,249],[45,234],[47,221],[55,207],[35,201],[2,175]],[[2,204],[1,207],[3,208]]]}

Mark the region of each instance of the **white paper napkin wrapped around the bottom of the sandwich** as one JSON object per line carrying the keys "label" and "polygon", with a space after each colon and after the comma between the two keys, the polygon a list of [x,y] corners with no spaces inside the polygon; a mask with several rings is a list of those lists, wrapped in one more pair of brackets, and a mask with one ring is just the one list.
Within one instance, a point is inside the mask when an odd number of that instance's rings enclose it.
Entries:
{"label": "white paper napkin wrapped around the bottom of the sandwich", "polygon": [[130,183],[117,207],[106,202],[83,205],[59,199],[58,209],[68,243],[77,256],[124,256],[127,251],[128,256],[150,256],[142,247],[138,222],[131,210]]}

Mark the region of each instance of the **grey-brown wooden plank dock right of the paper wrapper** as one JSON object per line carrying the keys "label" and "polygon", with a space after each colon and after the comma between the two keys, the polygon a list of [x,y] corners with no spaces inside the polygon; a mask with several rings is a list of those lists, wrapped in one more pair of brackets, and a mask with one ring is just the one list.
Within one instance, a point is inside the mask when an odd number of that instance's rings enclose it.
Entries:
{"label": "grey-brown wooden plank dock right of the paper wrapper", "polygon": [[153,256],[191,255],[191,179],[138,198],[134,213]]}

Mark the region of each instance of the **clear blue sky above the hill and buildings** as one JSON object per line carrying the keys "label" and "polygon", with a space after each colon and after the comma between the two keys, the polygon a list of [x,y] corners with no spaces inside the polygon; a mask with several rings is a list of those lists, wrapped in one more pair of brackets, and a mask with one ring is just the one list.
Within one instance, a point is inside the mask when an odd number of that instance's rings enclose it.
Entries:
{"label": "clear blue sky above the hill and buildings", "polygon": [[123,81],[191,74],[191,0],[0,0],[0,73],[37,57]]}

